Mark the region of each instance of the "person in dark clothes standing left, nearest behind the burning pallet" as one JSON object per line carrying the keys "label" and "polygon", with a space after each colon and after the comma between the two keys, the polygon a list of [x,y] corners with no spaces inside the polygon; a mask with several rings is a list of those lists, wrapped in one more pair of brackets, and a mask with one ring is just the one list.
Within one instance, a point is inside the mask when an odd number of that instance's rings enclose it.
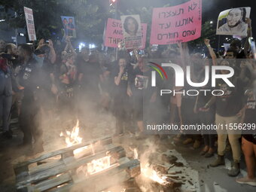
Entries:
{"label": "person in dark clothes standing left, nearest behind the burning pallet", "polygon": [[18,75],[20,85],[24,87],[24,97],[20,112],[20,128],[23,131],[23,145],[32,147],[32,138],[35,141],[34,151],[43,151],[42,132],[39,129],[39,102],[38,90],[41,87],[38,66],[32,58],[32,49],[27,44],[18,47],[18,55],[23,63]]}

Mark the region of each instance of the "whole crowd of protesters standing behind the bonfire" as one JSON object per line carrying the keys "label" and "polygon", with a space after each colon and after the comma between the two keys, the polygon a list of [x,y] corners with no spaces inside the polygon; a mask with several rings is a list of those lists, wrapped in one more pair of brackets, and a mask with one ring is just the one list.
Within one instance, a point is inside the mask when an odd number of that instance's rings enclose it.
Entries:
{"label": "whole crowd of protesters standing behind the bonfire", "polygon": [[[96,103],[114,114],[115,136],[128,132],[137,139],[143,139],[145,123],[158,123],[160,120],[179,126],[196,123],[255,124],[256,63],[248,42],[251,20],[246,22],[248,37],[245,44],[233,39],[224,54],[215,52],[209,39],[205,39],[206,54],[190,51],[187,43],[159,50],[148,47],[142,54],[141,50],[129,53],[122,44],[117,53],[102,53],[86,47],[77,53],[69,37],[65,38],[66,47],[63,50],[58,44],[53,46],[53,41],[44,39],[35,48],[29,44],[16,46],[0,40],[2,136],[12,138],[10,120],[15,114],[23,131],[23,145],[32,146],[34,141],[35,151],[43,151],[42,131],[38,128],[41,113],[50,117],[55,110],[59,110],[59,113],[69,111],[69,114],[76,116],[82,107],[79,106],[81,99]],[[169,81],[157,80],[157,87],[151,87],[148,62],[154,59],[155,62],[178,64],[184,70],[185,66],[190,66],[194,82],[204,80],[205,66],[230,66],[235,70],[230,79],[235,87],[228,87],[224,81],[219,81],[218,90],[223,90],[224,95],[160,96],[157,90],[161,88],[182,91],[190,87],[187,84],[175,87],[172,69],[166,69]],[[226,73],[221,70],[221,74]],[[212,89],[210,84],[204,88]],[[230,176],[239,175],[242,148],[248,175],[236,181],[256,186],[255,135],[234,133],[231,129],[217,130],[215,134],[207,131],[197,134],[181,132],[174,137],[174,141],[184,145],[193,142],[194,148],[200,148],[204,143],[200,152],[204,157],[212,157],[217,148],[218,158],[212,161],[212,167],[224,165],[225,151],[231,149],[233,164],[227,172]]]}

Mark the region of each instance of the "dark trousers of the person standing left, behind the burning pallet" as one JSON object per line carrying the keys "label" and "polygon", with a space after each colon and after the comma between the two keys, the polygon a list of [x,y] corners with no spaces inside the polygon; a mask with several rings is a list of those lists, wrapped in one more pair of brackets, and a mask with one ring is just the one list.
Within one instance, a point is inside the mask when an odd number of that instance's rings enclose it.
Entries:
{"label": "dark trousers of the person standing left, behind the burning pallet", "polygon": [[23,143],[32,144],[32,138],[36,144],[42,145],[42,131],[39,129],[39,107],[32,99],[23,99],[20,111],[20,129],[23,131]]}

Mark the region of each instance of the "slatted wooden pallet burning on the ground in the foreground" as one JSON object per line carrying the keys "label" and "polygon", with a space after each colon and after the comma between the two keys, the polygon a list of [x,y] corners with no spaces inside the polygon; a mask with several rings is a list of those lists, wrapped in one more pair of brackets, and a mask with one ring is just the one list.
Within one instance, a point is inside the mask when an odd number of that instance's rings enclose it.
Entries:
{"label": "slatted wooden pallet burning on the ground in the foreground", "polygon": [[14,166],[17,191],[101,191],[140,174],[111,137],[41,155]]}

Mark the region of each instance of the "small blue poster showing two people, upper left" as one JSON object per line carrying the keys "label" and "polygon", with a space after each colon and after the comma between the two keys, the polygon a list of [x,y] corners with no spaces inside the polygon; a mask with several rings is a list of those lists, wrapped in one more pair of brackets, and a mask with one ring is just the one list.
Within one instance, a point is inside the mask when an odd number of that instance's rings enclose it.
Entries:
{"label": "small blue poster showing two people, upper left", "polygon": [[76,38],[75,18],[69,16],[60,16],[64,27],[64,35]]}

